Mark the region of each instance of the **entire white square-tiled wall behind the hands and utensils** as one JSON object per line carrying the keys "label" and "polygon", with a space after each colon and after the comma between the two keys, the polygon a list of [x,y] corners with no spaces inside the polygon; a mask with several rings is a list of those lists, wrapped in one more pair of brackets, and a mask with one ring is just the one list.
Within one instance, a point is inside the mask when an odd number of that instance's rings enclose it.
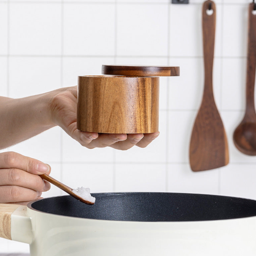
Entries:
{"label": "entire white square-tiled wall behind the hands and utensils", "polygon": [[[6,150],[51,165],[52,176],[92,192],[171,191],[256,199],[256,158],[232,135],[245,108],[247,5],[216,0],[214,94],[229,142],[230,164],[194,173],[188,150],[204,70],[201,0],[0,0],[0,94],[24,97],[73,86],[101,64],[179,65],[160,79],[160,136],[128,151],[83,148],[56,127]],[[63,194],[52,187],[43,196]],[[0,239],[0,253],[29,252]]]}

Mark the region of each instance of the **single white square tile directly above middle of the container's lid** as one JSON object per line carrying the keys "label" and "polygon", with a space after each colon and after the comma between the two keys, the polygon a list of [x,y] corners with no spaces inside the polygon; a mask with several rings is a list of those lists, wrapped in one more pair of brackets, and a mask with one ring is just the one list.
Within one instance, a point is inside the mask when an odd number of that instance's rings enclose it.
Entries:
{"label": "single white square tile directly above middle of the container's lid", "polygon": [[167,56],[168,5],[118,4],[116,33],[117,55]]}

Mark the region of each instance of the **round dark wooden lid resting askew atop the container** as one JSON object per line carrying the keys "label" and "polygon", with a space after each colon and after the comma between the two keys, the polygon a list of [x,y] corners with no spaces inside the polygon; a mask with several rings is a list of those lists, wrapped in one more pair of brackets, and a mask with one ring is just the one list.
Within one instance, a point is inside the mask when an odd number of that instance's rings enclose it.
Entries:
{"label": "round dark wooden lid resting askew atop the container", "polygon": [[139,66],[139,65],[102,65],[105,75],[124,76],[179,76],[180,67],[175,66]]}

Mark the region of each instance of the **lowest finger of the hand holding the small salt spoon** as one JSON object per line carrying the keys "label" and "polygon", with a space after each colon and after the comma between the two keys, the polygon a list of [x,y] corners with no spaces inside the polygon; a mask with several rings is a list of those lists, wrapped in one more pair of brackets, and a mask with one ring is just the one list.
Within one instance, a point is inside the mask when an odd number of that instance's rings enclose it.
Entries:
{"label": "lowest finger of the hand holding the small salt spoon", "polygon": [[32,201],[41,194],[42,192],[19,186],[0,186],[0,203]]}

